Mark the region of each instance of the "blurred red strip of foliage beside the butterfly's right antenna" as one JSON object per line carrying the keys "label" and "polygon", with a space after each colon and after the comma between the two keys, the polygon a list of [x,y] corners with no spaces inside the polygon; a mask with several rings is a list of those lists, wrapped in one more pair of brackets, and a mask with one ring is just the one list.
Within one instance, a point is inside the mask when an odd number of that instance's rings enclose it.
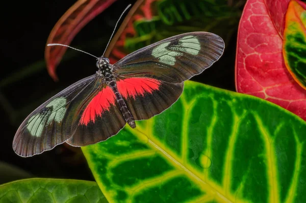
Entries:
{"label": "blurred red strip of foliage beside the butterfly's right antenna", "polygon": [[136,34],[133,23],[142,18],[149,20],[156,15],[157,13],[155,13],[156,11],[152,6],[158,1],[159,0],[138,0],[134,4],[105,52],[105,56],[109,57],[111,63],[115,63],[129,54],[124,49],[124,43],[126,37],[133,37]]}

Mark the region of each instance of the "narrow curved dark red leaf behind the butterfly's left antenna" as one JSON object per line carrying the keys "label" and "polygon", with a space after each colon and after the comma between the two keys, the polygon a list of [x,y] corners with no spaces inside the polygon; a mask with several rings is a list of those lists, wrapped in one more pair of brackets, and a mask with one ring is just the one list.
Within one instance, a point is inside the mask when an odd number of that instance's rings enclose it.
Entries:
{"label": "narrow curved dark red leaf behind the butterfly's left antenna", "polygon": [[[95,16],[107,9],[116,0],[79,0],[59,19],[47,39],[48,43],[69,45],[74,36]],[[56,67],[66,52],[66,47],[52,46],[45,49],[49,75],[58,80]]]}

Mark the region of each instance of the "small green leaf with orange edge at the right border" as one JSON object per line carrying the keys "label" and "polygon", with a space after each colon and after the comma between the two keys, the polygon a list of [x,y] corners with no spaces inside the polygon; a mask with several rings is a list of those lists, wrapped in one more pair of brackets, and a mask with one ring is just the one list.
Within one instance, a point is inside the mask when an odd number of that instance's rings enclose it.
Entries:
{"label": "small green leaf with orange edge at the right border", "polygon": [[284,59],[294,80],[306,89],[306,4],[291,1],[286,14]]}

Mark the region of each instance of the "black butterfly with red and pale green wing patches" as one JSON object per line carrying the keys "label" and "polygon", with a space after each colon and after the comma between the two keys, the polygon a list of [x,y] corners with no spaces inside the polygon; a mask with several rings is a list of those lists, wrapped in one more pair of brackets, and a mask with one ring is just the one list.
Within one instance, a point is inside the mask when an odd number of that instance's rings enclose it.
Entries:
{"label": "black butterfly with red and pale green wing patches", "polygon": [[176,35],[139,49],[118,62],[97,58],[98,71],[50,98],[20,125],[13,149],[32,156],[61,143],[86,146],[117,134],[127,123],[149,119],[169,108],[184,81],[202,73],[224,50],[208,32]]}

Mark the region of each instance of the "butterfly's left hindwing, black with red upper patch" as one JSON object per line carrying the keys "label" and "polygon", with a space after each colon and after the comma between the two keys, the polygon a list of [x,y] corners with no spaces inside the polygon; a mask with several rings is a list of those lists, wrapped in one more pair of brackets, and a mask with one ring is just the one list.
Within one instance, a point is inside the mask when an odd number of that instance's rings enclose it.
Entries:
{"label": "butterfly's left hindwing, black with red upper patch", "polygon": [[98,94],[83,106],[72,123],[73,136],[66,142],[72,146],[85,146],[114,136],[125,125],[115,94],[106,84]]}

